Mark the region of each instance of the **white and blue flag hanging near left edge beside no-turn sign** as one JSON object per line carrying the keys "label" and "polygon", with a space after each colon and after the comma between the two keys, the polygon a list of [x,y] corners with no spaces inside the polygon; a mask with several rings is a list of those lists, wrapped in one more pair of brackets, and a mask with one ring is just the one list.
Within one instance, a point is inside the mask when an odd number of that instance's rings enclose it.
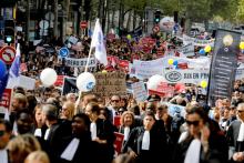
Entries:
{"label": "white and blue flag hanging near left edge beside no-turn sign", "polygon": [[9,70],[8,89],[13,89],[19,83],[20,77],[20,44],[17,45],[17,54]]}

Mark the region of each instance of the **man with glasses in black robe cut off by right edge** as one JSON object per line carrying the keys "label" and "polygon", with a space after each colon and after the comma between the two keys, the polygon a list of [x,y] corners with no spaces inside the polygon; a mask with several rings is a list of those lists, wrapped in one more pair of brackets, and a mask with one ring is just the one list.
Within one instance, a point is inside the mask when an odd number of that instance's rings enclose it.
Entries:
{"label": "man with glasses in black robe cut off by right edge", "polygon": [[230,151],[235,162],[244,162],[244,103],[237,106],[238,120],[232,122],[227,131]]}

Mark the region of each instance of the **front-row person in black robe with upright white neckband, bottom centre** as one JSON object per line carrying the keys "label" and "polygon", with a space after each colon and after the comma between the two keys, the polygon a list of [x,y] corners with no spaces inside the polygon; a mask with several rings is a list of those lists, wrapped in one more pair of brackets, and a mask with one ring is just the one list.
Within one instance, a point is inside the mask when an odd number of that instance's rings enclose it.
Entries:
{"label": "front-row person in black robe with upright white neckband, bottom centre", "polygon": [[156,121],[152,111],[146,111],[143,126],[134,128],[122,152],[129,153],[136,163],[170,162],[166,133],[162,120]]}

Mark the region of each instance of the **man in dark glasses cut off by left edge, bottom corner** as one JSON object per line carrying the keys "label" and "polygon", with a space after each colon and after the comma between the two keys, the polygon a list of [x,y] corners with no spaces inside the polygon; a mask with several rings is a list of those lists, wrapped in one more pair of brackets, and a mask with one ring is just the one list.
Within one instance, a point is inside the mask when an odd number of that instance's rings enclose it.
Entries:
{"label": "man in dark glasses cut off by left edge, bottom corner", "polygon": [[12,129],[10,122],[0,119],[0,160],[1,160],[0,162],[1,163],[10,162],[6,146],[10,141],[11,133],[12,133]]}

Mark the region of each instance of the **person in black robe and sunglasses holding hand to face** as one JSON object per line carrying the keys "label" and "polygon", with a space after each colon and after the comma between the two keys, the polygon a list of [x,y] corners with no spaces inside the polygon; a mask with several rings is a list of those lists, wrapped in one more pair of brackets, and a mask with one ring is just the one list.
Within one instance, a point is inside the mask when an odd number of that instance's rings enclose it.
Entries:
{"label": "person in black robe and sunglasses holding hand to face", "polygon": [[195,106],[187,112],[187,136],[175,149],[174,163],[225,163],[227,141],[216,129],[203,108]]}

